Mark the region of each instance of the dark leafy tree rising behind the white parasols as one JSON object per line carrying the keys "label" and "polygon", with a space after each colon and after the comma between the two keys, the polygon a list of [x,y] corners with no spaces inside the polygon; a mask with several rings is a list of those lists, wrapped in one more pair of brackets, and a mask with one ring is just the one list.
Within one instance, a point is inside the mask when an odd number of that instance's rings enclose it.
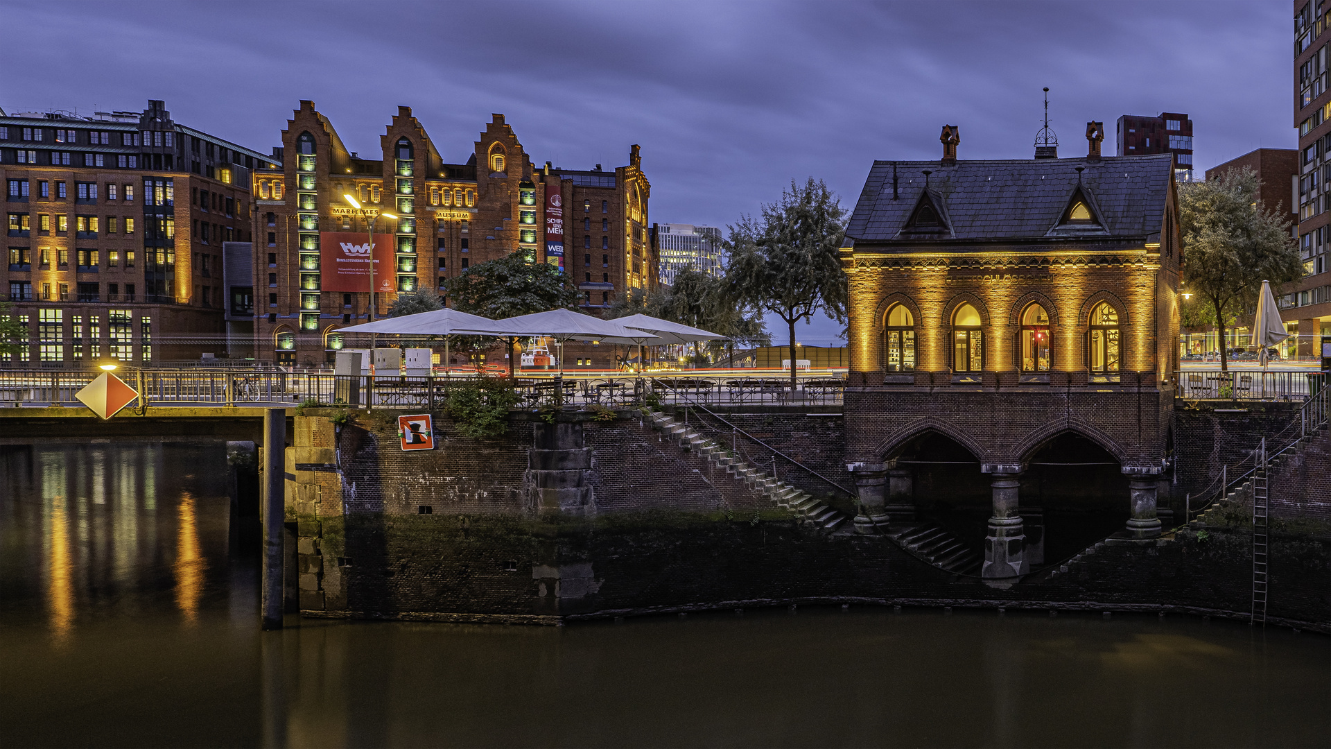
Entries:
{"label": "dark leafy tree rising behind the white parasols", "polygon": [[[520,252],[476,263],[449,279],[445,293],[459,312],[491,320],[531,315],[560,307],[578,309],[572,276],[544,263],[528,263]],[[514,374],[512,339],[508,340],[508,376]]]}

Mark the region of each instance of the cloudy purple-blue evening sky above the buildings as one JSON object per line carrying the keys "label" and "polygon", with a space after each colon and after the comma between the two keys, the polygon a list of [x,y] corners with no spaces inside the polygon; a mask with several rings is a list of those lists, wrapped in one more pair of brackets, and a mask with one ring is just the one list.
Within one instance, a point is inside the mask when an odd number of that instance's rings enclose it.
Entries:
{"label": "cloudy purple-blue evening sky above the buildings", "polygon": [[[643,147],[651,220],[724,227],[793,179],[851,207],[873,159],[1061,153],[1187,112],[1202,171],[1294,148],[1290,3],[0,3],[7,112],[142,109],[268,153],[313,99],[347,147],[410,105],[463,161],[503,112],[532,161]],[[1113,151],[1106,139],[1106,152]],[[839,327],[804,328],[827,344]],[[771,327],[769,327],[771,329]],[[779,331],[780,328],[777,328]],[[775,332],[775,331],[773,331]],[[780,335],[780,333],[779,333]]]}

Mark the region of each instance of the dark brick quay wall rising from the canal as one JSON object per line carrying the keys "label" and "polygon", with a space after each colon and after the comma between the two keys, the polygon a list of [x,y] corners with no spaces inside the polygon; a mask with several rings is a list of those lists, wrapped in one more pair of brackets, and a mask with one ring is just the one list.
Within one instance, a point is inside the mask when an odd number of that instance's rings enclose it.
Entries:
{"label": "dark brick quay wall rising from the canal", "polygon": [[[1234,617],[1248,610],[1251,536],[1243,506],[1209,514],[1205,525],[1174,537],[1095,546],[1067,562],[1066,572],[1054,566],[1002,588],[944,572],[884,536],[827,534],[664,440],[636,412],[610,421],[560,414],[562,424],[515,413],[507,434],[484,442],[462,437],[435,414],[437,448],[414,453],[398,446],[397,413],[353,412],[341,429],[333,414],[306,409],[297,416],[286,456],[306,616],[560,624],[837,602]],[[836,476],[840,418],[720,416]],[[1235,450],[1246,437],[1230,432],[1266,428],[1225,414],[1194,420],[1181,422],[1179,432],[1211,424],[1219,444]],[[1201,454],[1206,445],[1193,442]],[[1225,454],[1230,448],[1207,449]],[[1181,449],[1179,461],[1189,454]],[[1328,456],[1323,436],[1282,470],[1327,476]],[[1331,497],[1323,484],[1290,478],[1283,494],[1272,490],[1272,504],[1302,502],[1302,514],[1272,530],[1268,616],[1331,632],[1331,517],[1324,512]],[[551,509],[551,501],[570,497],[586,501],[587,512]]]}

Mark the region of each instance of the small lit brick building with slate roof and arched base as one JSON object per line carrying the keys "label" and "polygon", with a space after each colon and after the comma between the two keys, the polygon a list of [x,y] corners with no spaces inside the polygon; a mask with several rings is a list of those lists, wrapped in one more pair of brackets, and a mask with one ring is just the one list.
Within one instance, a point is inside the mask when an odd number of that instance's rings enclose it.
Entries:
{"label": "small lit brick building with slate roof and arched base", "polygon": [[1173,160],[1102,157],[1102,137],[1091,123],[1081,159],[961,161],[945,128],[940,161],[873,163],[841,249],[860,532],[937,526],[984,545],[986,577],[1038,566],[1046,538],[1161,533]]}

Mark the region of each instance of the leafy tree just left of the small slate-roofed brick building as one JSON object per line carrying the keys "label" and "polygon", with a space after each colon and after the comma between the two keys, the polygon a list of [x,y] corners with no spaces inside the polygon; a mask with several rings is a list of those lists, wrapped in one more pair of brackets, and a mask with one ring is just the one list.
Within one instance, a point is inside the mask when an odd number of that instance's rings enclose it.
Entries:
{"label": "leafy tree just left of the small slate-roofed brick building", "polygon": [[845,235],[836,195],[809,177],[791,181],[781,199],[763,207],[761,219],[741,216],[729,227],[728,297],[775,313],[789,331],[791,389],[795,389],[795,323],[825,311],[845,321],[847,283],[837,249]]}

